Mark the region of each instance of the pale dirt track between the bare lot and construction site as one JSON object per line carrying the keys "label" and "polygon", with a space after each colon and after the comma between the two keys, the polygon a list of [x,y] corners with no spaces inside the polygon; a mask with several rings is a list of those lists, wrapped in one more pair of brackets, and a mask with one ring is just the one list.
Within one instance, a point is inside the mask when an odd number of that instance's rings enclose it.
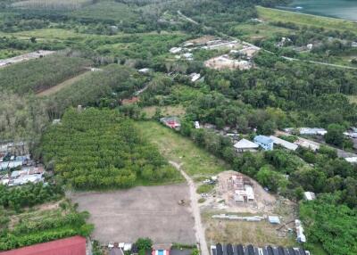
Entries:
{"label": "pale dirt track between the bare lot and construction site", "polygon": [[202,225],[202,220],[201,220],[201,212],[198,207],[198,194],[195,192],[195,183],[191,177],[187,175],[187,173],[181,169],[181,164],[170,161],[170,164],[174,166],[176,169],[179,170],[179,172],[182,174],[183,177],[187,180],[187,184],[189,186],[189,193],[190,193],[190,200],[191,200],[191,208],[192,208],[192,213],[195,218],[195,237],[197,240],[197,243],[200,244],[201,248],[201,254],[202,255],[210,255],[210,252],[208,251],[207,243],[206,243],[206,237],[204,233],[204,227]]}

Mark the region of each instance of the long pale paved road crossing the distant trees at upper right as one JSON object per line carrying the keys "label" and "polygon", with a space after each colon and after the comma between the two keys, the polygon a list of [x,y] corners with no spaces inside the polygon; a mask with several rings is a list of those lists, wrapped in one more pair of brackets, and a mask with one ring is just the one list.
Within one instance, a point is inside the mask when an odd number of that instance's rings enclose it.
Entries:
{"label": "long pale paved road crossing the distant trees at upper right", "polygon": [[[178,14],[180,17],[182,17],[183,19],[187,20],[188,22],[191,22],[191,23],[194,23],[195,25],[200,25],[197,21],[191,19],[190,17],[187,17],[185,14],[183,14],[182,12],[178,11]],[[212,29],[212,28],[209,28],[207,26],[203,26],[204,29]],[[245,42],[245,41],[242,41],[240,39],[238,39],[237,37],[231,37],[231,36],[228,36],[227,34],[223,33],[223,32],[220,32],[220,31],[216,31],[216,32],[219,32],[221,36],[224,36],[224,37],[228,37],[228,38],[231,38],[233,40],[237,40],[239,41],[241,44],[243,45],[247,45],[247,46],[250,46],[250,47],[255,47],[257,48],[258,50],[263,50],[267,53],[273,53],[273,52],[270,52],[266,49],[263,49],[261,47],[258,47],[256,45],[253,45],[251,43],[248,43],[248,42]],[[275,54],[275,53],[273,53]],[[295,59],[295,58],[289,58],[289,57],[286,57],[286,56],[281,56],[281,58],[283,59],[286,59],[288,61],[297,61],[297,62],[309,62],[309,63],[314,63],[314,64],[320,64],[320,65],[325,65],[325,66],[330,66],[330,67],[336,67],[336,68],[342,68],[342,69],[350,69],[350,70],[357,70],[356,67],[351,67],[351,66],[345,66],[345,65],[338,65],[338,64],[331,64],[331,63],[327,63],[327,62],[315,62],[315,61],[308,61],[308,60],[300,60],[300,59]]]}

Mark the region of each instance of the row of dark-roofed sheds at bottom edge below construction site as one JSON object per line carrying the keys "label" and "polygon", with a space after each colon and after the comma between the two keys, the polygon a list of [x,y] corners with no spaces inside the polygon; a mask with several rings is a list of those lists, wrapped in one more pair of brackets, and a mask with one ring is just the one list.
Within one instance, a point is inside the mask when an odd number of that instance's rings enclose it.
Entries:
{"label": "row of dark-roofed sheds at bottom edge below construction site", "polygon": [[309,251],[304,251],[302,248],[285,248],[285,247],[255,247],[249,245],[232,245],[220,244],[211,246],[212,255],[310,255]]}

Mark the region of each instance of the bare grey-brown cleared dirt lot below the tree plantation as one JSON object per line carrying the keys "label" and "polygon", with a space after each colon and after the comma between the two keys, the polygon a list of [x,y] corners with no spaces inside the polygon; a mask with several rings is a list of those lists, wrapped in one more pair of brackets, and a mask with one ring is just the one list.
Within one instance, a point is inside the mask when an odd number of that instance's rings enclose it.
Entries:
{"label": "bare grey-brown cleared dirt lot below the tree plantation", "polygon": [[[187,185],[135,187],[105,193],[73,193],[79,210],[87,210],[101,243],[132,243],[150,237],[154,243],[195,243],[194,218]],[[185,206],[179,205],[185,200]]]}

